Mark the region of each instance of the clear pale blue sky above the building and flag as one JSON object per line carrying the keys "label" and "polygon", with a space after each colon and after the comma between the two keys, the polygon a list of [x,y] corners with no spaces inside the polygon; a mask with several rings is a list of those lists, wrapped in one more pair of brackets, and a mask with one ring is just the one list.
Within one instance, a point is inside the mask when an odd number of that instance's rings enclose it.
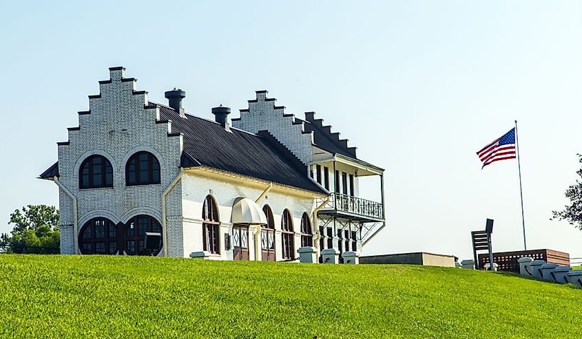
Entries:
{"label": "clear pale blue sky above the building and flag", "polygon": [[364,254],[466,259],[487,217],[494,250],[523,249],[517,162],[481,171],[475,155],[517,119],[528,247],[582,256],[582,232],[549,220],[582,153],[579,1],[12,1],[0,50],[0,232],[58,204],[35,178],[123,65],[152,101],[185,89],[198,116],[237,116],[258,89],[316,111],[386,168],[388,226]]}

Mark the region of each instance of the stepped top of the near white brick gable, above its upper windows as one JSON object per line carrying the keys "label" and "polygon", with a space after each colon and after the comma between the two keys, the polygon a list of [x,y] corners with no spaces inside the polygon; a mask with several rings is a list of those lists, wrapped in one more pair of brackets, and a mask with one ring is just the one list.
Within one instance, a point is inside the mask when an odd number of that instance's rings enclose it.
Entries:
{"label": "stepped top of the near white brick gable, above its upper windows", "polygon": [[67,128],[68,140],[56,143],[59,162],[39,177],[74,177],[76,162],[87,150],[104,150],[114,161],[135,146],[178,149],[179,154],[179,133],[171,132],[171,122],[159,121],[158,107],[149,105],[147,91],[137,90],[137,79],[126,78],[123,66],[110,67],[109,74],[98,81],[99,94],[89,96],[89,109],[77,112],[79,126]]}

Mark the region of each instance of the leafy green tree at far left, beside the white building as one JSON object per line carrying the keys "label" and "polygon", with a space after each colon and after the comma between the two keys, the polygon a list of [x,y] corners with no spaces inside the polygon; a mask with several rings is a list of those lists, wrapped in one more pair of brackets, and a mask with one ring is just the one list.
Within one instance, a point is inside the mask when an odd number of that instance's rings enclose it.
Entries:
{"label": "leafy green tree at far left, beside the white building", "polygon": [[56,254],[60,252],[59,210],[54,206],[28,205],[10,214],[10,235],[0,234],[0,251]]}

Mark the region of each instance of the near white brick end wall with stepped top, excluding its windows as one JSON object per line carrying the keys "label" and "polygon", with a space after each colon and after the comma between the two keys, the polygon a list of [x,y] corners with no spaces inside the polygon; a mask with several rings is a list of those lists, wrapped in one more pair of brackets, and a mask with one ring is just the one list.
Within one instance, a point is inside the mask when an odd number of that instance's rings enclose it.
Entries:
{"label": "near white brick end wall with stepped top, excluding its windows", "polygon": [[[90,98],[90,114],[79,115],[79,130],[69,131],[69,144],[59,145],[59,180],[77,198],[79,231],[94,217],[106,217],[115,223],[127,222],[136,215],[146,214],[161,223],[161,195],[178,175],[182,136],[167,135],[170,123],[156,124],[158,109],[145,109],[146,94],[134,94],[135,81],[121,81],[125,70],[110,71],[111,83],[99,85],[101,98]],[[125,186],[125,164],[137,151],[149,151],[160,162],[160,184]],[[79,189],[79,166],[88,156],[107,157],[113,167],[112,188]],[[177,193],[176,193],[177,192]],[[181,199],[169,200],[172,208],[180,209]],[[74,253],[72,241],[72,201],[62,191],[61,252]],[[169,248],[175,243],[169,242]]]}

